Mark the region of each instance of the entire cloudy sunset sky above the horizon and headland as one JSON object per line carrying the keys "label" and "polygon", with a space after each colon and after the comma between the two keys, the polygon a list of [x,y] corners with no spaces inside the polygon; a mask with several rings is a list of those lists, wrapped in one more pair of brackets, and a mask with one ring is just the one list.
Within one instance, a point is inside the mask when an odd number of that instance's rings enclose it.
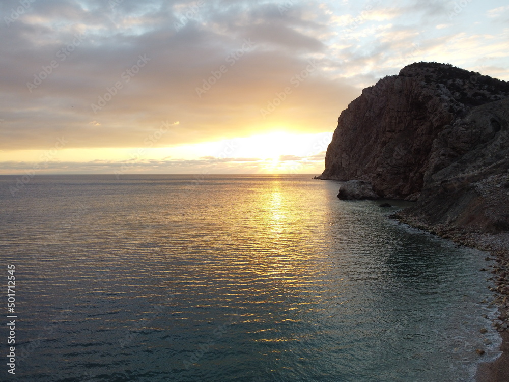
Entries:
{"label": "entire cloudy sunset sky above the horizon and headland", "polygon": [[2,0],[0,174],[320,174],[413,62],[509,80],[505,1]]}

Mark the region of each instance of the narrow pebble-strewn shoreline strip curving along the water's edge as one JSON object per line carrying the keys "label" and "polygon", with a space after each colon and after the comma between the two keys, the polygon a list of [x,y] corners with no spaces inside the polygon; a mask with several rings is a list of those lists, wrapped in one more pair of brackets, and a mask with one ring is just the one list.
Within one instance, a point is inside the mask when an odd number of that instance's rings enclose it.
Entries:
{"label": "narrow pebble-strewn shoreline strip curving along the water's edge", "polygon": [[[492,328],[502,337],[499,350],[500,357],[492,362],[479,363],[475,382],[508,382],[509,381],[509,329],[501,330],[501,326],[509,323],[509,232],[495,235],[480,232],[465,232],[456,227],[445,225],[430,226],[413,216],[402,213],[390,214],[389,217],[408,224],[411,227],[428,231],[444,239],[451,240],[466,247],[475,248],[490,253],[496,261],[488,278],[493,280],[494,288],[490,290],[495,294],[493,304],[498,307],[498,319],[493,320]],[[487,271],[487,269],[484,269]],[[473,349],[475,351],[476,349]],[[479,357],[483,357],[480,355]]]}

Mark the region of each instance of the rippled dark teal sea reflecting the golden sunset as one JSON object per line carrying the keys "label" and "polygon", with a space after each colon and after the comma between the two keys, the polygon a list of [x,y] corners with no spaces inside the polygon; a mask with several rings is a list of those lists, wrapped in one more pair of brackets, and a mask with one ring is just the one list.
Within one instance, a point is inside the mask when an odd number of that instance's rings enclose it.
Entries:
{"label": "rippled dark teal sea reflecting the golden sunset", "polygon": [[309,175],[17,178],[0,380],[470,381],[498,356],[487,254],[386,217],[409,203]]}

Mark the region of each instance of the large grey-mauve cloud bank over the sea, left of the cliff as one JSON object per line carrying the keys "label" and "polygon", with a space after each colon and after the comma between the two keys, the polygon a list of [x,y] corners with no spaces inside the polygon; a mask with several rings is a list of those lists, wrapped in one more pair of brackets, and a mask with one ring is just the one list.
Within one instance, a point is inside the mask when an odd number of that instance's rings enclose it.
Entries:
{"label": "large grey-mauve cloud bank over the sea, left of the cliff", "polygon": [[[260,109],[306,67],[307,54],[325,49],[313,31],[327,26],[299,6],[282,17],[277,7],[252,2],[211,2],[191,14],[194,3],[106,4],[34,3],[0,27],[0,51],[9,52],[0,69],[3,148],[44,149],[61,134],[72,147],[137,147],[167,119],[181,123],[157,145],[204,142],[294,123],[294,110],[303,117],[296,129],[313,131],[313,118],[323,130],[333,126],[325,113],[337,98],[346,103],[356,93],[317,70],[262,118]],[[241,51],[245,39],[254,46]],[[214,78],[222,66],[227,71]],[[196,89],[211,77],[200,98]]]}

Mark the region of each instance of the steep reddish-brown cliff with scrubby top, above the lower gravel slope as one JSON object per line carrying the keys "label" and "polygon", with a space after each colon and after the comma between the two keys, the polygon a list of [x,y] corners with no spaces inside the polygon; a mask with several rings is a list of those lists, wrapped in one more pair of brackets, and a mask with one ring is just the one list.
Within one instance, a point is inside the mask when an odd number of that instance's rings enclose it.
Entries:
{"label": "steep reddish-brown cliff with scrubby top, above the lower gravel slope", "polygon": [[381,197],[417,200],[434,183],[505,158],[509,119],[501,100],[508,95],[509,84],[498,79],[445,64],[409,65],[341,113],[320,178],[369,181]]}

